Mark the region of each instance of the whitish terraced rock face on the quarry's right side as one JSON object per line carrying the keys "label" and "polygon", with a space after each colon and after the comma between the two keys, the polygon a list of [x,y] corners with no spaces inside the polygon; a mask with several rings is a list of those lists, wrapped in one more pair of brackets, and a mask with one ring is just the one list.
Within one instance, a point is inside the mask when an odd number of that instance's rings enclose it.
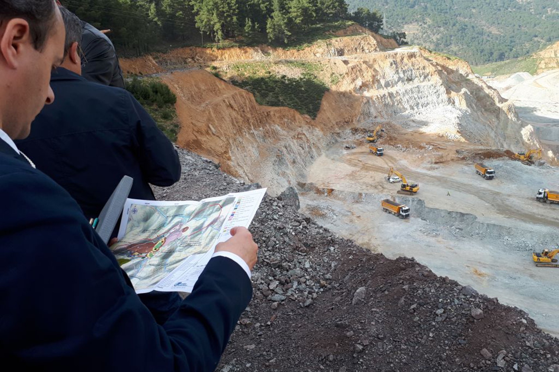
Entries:
{"label": "whitish terraced rock face on the quarry's right side", "polygon": [[419,51],[402,50],[349,60],[347,67],[341,87],[367,98],[361,115],[366,122],[394,122],[501,148],[524,148],[524,140],[537,141],[522,136],[524,125],[513,105],[475,78],[467,65],[449,67]]}

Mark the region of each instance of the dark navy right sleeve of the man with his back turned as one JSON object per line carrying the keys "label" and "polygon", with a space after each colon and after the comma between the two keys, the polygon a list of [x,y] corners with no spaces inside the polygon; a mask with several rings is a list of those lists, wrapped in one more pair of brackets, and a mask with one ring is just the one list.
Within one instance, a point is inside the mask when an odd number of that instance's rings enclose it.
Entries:
{"label": "dark navy right sleeve of the man with his back turned", "polygon": [[135,134],[138,163],[146,180],[155,186],[170,186],[181,178],[177,150],[140,105],[128,95],[129,120]]}

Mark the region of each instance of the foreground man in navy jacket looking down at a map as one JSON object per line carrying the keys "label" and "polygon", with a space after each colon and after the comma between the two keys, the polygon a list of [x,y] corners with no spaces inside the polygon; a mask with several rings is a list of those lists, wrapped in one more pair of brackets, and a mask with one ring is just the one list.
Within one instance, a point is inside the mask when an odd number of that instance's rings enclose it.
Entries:
{"label": "foreground man in navy jacket looking down at a map", "polygon": [[64,34],[53,0],[0,0],[0,357],[20,370],[214,370],[252,295],[248,230],[158,325],[72,197],[12,141],[54,100]]}

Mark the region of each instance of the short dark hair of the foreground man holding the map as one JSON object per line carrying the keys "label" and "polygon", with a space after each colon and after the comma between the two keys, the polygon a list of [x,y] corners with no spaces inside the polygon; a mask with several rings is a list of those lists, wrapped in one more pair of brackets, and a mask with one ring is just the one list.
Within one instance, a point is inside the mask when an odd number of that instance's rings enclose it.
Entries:
{"label": "short dark hair of the foreground man holding the map", "polygon": [[29,23],[33,46],[41,51],[54,26],[55,9],[54,0],[0,0],[0,25],[12,18],[23,18]]}

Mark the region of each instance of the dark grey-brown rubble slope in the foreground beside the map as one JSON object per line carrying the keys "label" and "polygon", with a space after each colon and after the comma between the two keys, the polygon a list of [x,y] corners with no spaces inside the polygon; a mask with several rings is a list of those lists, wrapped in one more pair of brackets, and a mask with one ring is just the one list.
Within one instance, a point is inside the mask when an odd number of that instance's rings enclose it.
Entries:
{"label": "dark grey-brown rubble slope in the foreground beside the map", "polygon": [[[179,149],[183,177],[158,199],[199,200],[251,185]],[[413,259],[390,260],[265,197],[254,296],[217,370],[559,372],[559,340],[528,315]]]}

